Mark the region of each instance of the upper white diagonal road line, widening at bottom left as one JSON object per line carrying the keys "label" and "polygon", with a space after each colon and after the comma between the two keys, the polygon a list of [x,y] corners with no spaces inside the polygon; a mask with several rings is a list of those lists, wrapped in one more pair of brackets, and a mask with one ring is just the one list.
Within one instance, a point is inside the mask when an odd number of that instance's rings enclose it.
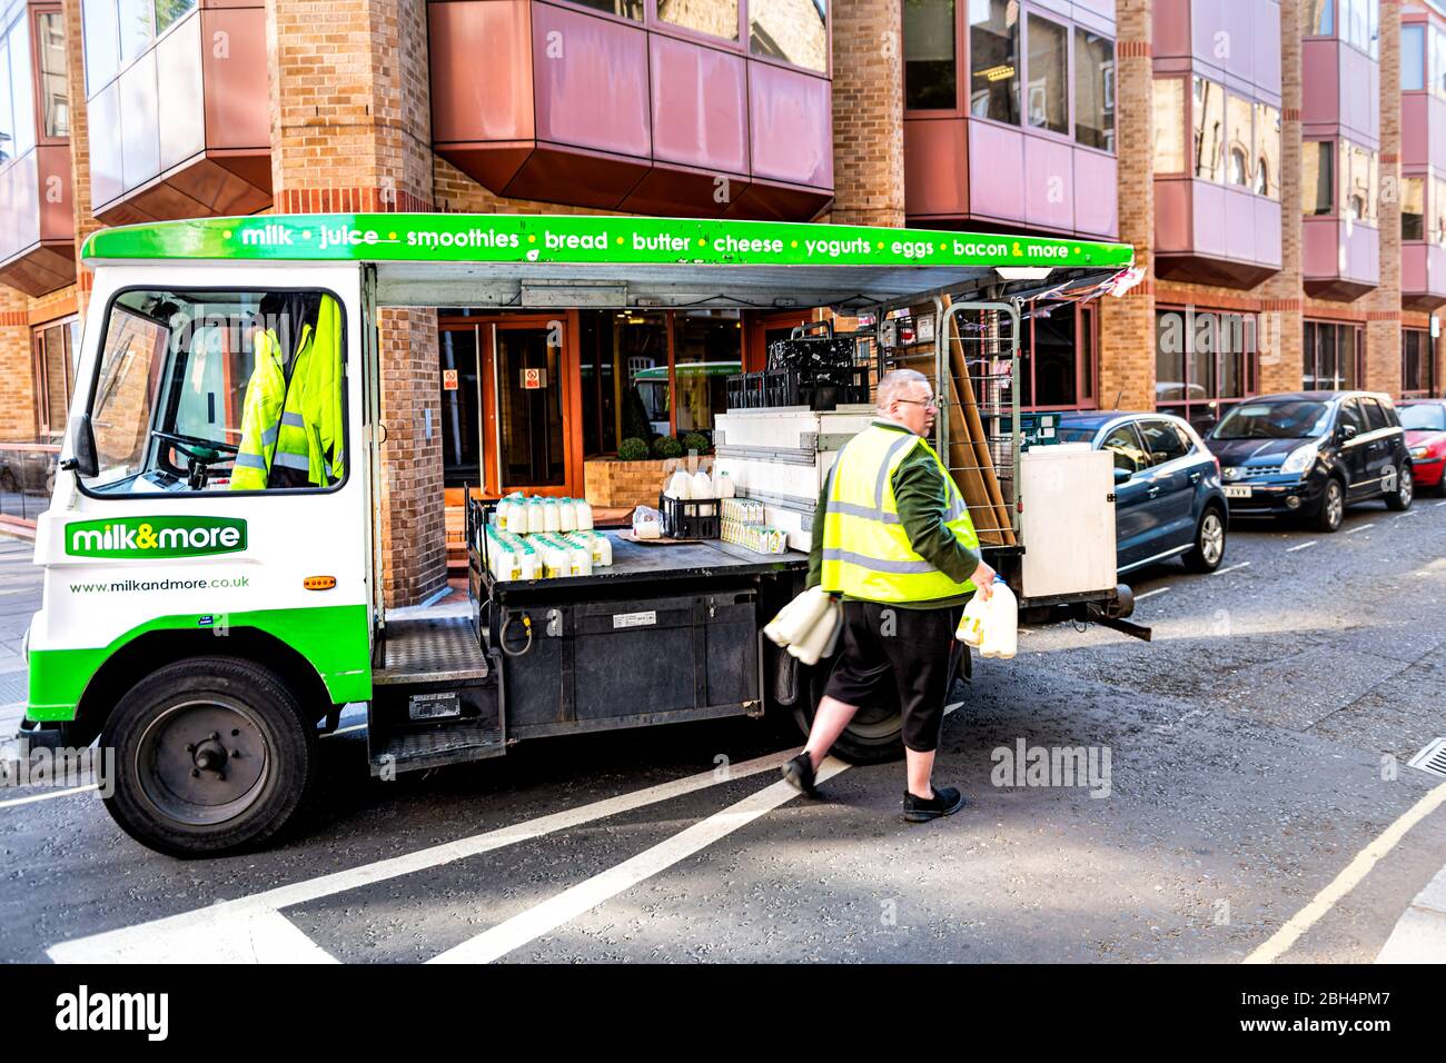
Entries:
{"label": "upper white diagonal road line, widening at bottom left", "polygon": [[[565,830],[607,816],[617,816],[619,813],[642,808],[648,804],[707,790],[720,782],[732,782],[733,780],[748,778],[759,772],[777,771],[791,755],[792,751],[769,754],[768,756],[733,764],[727,771],[703,771],[697,775],[662,782],[630,794],[609,797],[577,808],[552,813],[551,816],[541,816],[526,823],[497,827],[496,830],[463,837],[457,842],[445,842],[403,856],[364,863],[360,868],[337,871],[234,901],[218,901],[207,908],[195,908],[178,915],[152,920],[150,923],[107,930],[90,937],[78,937],[74,942],[61,942],[51,946],[46,955],[55,963],[195,963],[198,956],[221,962],[221,943],[234,939],[234,947],[228,944],[224,950],[227,955],[226,962],[254,962],[247,959],[252,955],[249,952],[252,931],[247,927],[252,926],[252,918],[257,913],[266,920],[266,913],[278,914],[281,908],[305,904],[307,901],[330,897],[347,889],[360,889],[362,887],[401,878],[402,875],[412,875],[442,863],[451,863],[453,861],[461,861],[493,849],[516,845],[518,842],[541,837],[555,830]],[[302,937],[305,936],[302,934]],[[279,936],[268,936],[266,940],[279,942],[282,939]],[[311,946],[309,939],[307,939],[307,943]],[[315,949],[315,946],[311,947]],[[311,960],[320,959],[315,952],[304,950],[298,942],[296,949],[288,955],[295,957],[292,962],[307,962],[308,957]],[[283,959],[279,955],[269,953],[268,962],[281,963]]]}

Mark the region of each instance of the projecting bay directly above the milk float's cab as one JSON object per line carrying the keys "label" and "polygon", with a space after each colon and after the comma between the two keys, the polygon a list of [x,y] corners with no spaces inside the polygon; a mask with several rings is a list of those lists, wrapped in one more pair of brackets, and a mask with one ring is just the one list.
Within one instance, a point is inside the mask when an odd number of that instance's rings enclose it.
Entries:
{"label": "projecting bay directly above the milk float's cab", "polygon": [[91,129],[113,130],[91,137],[97,218],[126,224],[270,205],[263,6],[192,9],[117,65],[88,80]]}

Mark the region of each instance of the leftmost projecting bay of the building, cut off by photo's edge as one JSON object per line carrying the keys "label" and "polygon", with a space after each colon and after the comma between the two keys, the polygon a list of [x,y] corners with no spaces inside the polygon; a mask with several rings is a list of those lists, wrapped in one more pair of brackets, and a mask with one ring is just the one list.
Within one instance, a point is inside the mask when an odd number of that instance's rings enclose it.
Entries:
{"label": "leftmost projecting bay of the building, cut off by photo's edge", "polygon": [[75,282],[62,26],[55,3],[0,26],[0,78],[13,104],[0,119],[0,283],[32,296]]}

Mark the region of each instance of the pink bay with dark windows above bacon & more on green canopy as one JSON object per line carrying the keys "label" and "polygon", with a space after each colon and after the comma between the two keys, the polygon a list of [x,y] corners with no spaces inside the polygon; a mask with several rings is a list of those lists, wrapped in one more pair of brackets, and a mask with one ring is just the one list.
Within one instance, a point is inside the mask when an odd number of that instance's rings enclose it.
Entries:
{"label": "pink bay with dark windows above bacon & more on green canopy", "polygon": [[1113,38],[1112,0],[907,7],[908,223],[1115,239]]}

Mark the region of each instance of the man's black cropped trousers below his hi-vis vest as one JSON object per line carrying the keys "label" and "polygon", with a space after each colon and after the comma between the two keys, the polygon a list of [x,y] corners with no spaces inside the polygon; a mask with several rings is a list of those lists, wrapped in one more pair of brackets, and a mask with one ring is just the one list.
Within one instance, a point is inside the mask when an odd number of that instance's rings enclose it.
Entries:
{"label": "man's black cropped trousers below his hi-vis vest", "polygon": [[963,652],[954,641],[963,612],[963,606],[844,602],[842,652],[824,694],[855,706],[897,704],[904,714],[904,745],[917,754],[934,752]]}

